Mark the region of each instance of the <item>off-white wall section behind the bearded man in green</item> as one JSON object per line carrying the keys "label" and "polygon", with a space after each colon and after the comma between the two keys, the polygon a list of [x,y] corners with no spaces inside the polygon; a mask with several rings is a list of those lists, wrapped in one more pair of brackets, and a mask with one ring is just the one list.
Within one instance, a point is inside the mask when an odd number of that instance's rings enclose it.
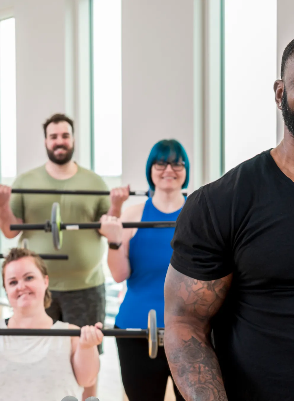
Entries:
{"label": "off-white wall section behind the bearded man in green", "polygon": [[17,171],[22,173],[45,161],[41,124],[65,111],[65,2],[16,0],[14,7]]}

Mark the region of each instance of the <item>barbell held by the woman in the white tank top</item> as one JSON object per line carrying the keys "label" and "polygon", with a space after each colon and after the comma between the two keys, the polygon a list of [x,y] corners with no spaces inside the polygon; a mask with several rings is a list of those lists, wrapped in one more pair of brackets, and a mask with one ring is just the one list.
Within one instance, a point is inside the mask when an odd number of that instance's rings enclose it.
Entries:
{"label": "barbell held by the woman in the white tank top", "polygon": [[[164,328],[157,328],[156,311],[151,309],[148,313],[147,329],[102,329],[105,337],[116,338],[145,338],[148,340],[148,353],[150,358],[157,356],[158,346],[163,346]],[[0,328],[0,336],[69,336],[81,335],[80,329],[47,329],[47,328]]]}

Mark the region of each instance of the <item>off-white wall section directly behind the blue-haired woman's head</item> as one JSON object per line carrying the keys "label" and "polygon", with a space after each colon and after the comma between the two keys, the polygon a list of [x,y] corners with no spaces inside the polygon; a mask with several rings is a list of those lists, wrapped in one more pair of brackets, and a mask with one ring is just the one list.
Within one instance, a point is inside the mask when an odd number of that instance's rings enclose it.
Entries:
{"label": "off-white wall section directly behind the blue-haired woman's head", "polygon": [[164,138],[187,150],[193,187],[193,33],[193,0],[122,2],[122,182],[134,189]]}

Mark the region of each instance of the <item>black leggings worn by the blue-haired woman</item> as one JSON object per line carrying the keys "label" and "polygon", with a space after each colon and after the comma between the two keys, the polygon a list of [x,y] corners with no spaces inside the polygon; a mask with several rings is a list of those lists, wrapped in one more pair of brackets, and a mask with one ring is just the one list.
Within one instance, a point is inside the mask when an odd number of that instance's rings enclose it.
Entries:
{"label": "black leggings worn by the blue-haired woman", "polygon": [[[117,327],[117,326],[116,326]],[[116,338],[122,383],[129,401],[164,401],[166,383],[171,376],[164,347],[151,359],[148,341],[142,338]],[[176,401],[185,401],[174,384]]]}

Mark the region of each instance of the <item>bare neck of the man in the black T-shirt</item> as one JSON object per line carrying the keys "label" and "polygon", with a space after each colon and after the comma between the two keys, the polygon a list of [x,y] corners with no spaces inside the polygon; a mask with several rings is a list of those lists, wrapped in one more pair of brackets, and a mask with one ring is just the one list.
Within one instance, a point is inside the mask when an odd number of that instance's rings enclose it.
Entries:
{"label": "bare neck of the man in the black T-shirt", "polygon": [[294,137],[286,127],[283,140],[270,153],[280,170],[294,181]]}

